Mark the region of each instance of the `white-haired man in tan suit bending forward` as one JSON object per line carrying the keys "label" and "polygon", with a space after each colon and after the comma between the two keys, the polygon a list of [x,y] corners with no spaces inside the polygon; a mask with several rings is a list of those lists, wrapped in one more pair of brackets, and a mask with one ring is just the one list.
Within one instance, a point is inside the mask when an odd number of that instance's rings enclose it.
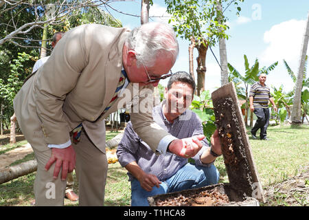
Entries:
{"label": "white-haired man in tan suit bending forward", "polygon": [[153,87],[178,52],[172,28],[161,23],[133,31],[81,25],[62,37],[14,99],[17,120],[38,161],[37,206],[63,205],[65,179],[74,167],[80,206],[104,205],[104,118],[124,105],[131,107],[135,132],[154,152],[192,157],[201,149],[203,137],[179,140],[152,120]]}

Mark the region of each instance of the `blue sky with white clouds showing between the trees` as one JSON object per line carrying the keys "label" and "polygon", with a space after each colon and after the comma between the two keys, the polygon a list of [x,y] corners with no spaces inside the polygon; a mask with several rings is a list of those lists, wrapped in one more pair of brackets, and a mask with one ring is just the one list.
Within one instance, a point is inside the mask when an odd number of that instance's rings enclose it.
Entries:
{"label": "blue sky with white clouds showing between the trees", "polygon": [[[140,1],[114,2],[111,5],[122,12],[140,14]],[[227,32],[229,39],[226,41],[227,61],[236,67],[240,74],[244,74],[244,54],[247,55],[250,66],[253,65],[255,58],[260,61],[260,67],[268,67],[275,61],[279,61],[277,67],[268,75],[266,84],[276,88],[283,85],[285,91],[292,90],[293,81],[284,67],[283,59],[297,74],[309,1],[244,0],[244,3],[240,3],[239,6],[242,8],[240,17],[236,16],[233,4],[225,11],[230,27]],[[150,16],[166,15],[165,8],[163,0],[154,0],[154,5],[150,7]],[[130,17],[113,10],[109,10],[109,12],[122,21],[124,27],[133,29],[140,25],[139,17]],[[150,19],[150,21],[167,23],[168,19]],[[179,57],[172,67],[173,72],[189,72],[189,45],[189,41],[179,37]],[[218,45],[211,47],[211,49],[220,61]],[[309,54],[309,50],[307,54]],[[196,56],[197,52],[194,50],[194,69],[196,69]],[[207,51],[206,67],[205,87],[207,90],[214,91],[220,87],[220,67],[210,50]],[[160,83],[165,86],[167,81],[162,80]]]}

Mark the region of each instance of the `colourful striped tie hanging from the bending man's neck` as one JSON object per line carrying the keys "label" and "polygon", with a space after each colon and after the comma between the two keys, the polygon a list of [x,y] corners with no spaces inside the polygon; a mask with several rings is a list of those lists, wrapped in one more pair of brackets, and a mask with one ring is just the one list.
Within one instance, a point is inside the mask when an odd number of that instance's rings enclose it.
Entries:
{"label": "colourful striped tie hanging from the bending man's neck", "polygon": [[[114,94],[113,98],[111,99],[111,101],[109,102],[108,106],[104,109],[104,111],[102,112],[101,115],[104,115],[104,113],[106,113],[106,111],[108,111],[108,109],[111,108],[111,106],[113,105],[115,100],[117,100],[119,91],[121,91],[122,87],[124,87],[124,83],[126,82],[126,78],[127,78],[126,72],[124,71],[124,69],[122,69],[122,74],[121,74],[121,76],[119,78],[115,94]],[[101,115],[100,115],[100,117],[101,117]],[[72,133],[73,133],[73,142],[74,142],[74,144],[78,144],[78,142],[80,142],[80,134],[82,133],[82,123],[80,123],[75,129],[73,129]]]}

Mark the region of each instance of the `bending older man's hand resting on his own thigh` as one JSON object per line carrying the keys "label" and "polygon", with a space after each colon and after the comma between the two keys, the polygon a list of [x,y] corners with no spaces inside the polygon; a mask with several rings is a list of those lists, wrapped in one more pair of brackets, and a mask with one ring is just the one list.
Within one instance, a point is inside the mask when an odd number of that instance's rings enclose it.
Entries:
{"label": "bending older man's hand resting on his own thigh", "polygon": [[71,173],[75,168],[76,163],[76,153],[73,149],[73,146],[68,146],[67,148],[52,148],[52,157],[49,158],[49,161],[45,165],[45,170],[49,170],[50,166],[56,162],[54,168],[54,179],[58,178],[60,169],[61,180],[65,181],[67,179],[67,173]]}

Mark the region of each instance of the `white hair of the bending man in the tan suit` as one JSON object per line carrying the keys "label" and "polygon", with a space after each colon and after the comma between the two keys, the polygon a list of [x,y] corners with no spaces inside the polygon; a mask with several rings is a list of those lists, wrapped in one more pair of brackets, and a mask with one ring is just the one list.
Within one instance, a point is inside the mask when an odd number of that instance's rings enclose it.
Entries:
{"label": "white hair of the bending man in the tan suit", "polygon": [[126,40],[130,50],[136,52],[138,65],[155,65],[159,56],[171,57],[175,62],[179,54],[179,45],[174,30],[163,23],[151,22],[132,30]]}

